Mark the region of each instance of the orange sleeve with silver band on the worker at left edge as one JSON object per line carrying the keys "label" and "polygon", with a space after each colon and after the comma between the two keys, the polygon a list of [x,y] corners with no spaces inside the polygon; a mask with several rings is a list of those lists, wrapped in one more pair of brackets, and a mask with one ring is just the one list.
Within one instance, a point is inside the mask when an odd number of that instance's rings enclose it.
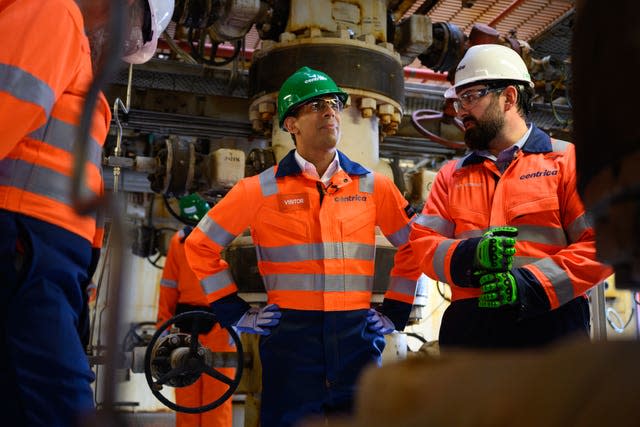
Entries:
{"label": "orange sleeve with silver band on the worker at left edge", "polygon": [[20,34],[20,43],[4,43],[0,49],[0,159],[45,125],[56,100],[76,78],[81,52],[89,52],[82,26],[73,2],[26,0],[0,7],[0,37],[16,40]]}

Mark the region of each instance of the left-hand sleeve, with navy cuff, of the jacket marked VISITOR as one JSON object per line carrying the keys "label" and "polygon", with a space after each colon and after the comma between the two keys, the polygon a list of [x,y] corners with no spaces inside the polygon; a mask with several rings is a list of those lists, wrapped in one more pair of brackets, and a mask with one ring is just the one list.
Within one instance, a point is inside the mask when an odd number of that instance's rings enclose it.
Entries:
{"label": "left-hand sleeve, with navy cuff, of the jacket marked VISITOR", "polygon": [[[187,261],[200,280],[200,284],[222,326],[235,323],[249,308],[238,297],[238,287],[229,265],[222,259],[222,250],[251,224],[260,200],[258,185],[245,178],[238,182],[202,218],[185,241]],[[253,190],[251,190],[253,188]]]}

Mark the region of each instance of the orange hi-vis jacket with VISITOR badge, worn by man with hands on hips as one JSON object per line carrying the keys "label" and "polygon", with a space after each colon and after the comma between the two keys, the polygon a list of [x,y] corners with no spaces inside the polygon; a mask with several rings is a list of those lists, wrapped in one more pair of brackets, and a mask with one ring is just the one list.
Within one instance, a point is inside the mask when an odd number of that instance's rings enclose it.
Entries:
{"label": "orange hi-vis jacket with VISITOR badge, worn by man with hands on hips", "polygon": [[325,188],[300,171],[292,150],[278,166],[238,182],[200,221],[186,249],[209,302],[237,292],[220,252],[250,227],[268,303],[369,308],[379,226],[398,248],[385,301],[410,310],[420,271],[408,244],[408,203],[387,177],[338,156],[342,170]]}

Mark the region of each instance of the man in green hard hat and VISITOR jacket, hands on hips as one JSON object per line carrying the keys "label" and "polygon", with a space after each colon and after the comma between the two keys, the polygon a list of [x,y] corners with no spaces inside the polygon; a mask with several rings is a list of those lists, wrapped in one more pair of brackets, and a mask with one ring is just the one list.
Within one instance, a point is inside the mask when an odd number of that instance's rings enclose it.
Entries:
{"label": "man in green hard hat and VISITOR jacket, hands on hips", "polygon": [[[356,380],[380,364],[384,334],[407,323],[420,275],[408,244],[413,212],[394,183],[338,151],[348,94],[302,67],[278,94],[295,143],[277,166],[238,182],[193,230],[187,259],[223,326],[262,335],[262,427],[348,412]],[[371,308],[376,226],[398,250]],[[247,228],[267,305],[251,307],[220,253]]]}

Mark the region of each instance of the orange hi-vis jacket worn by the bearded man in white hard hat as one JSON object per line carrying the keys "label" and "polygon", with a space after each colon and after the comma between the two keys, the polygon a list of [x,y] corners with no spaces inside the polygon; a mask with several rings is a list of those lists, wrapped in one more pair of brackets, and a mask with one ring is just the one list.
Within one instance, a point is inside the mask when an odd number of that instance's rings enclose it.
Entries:
{"label": "orange hi-vis jacket worn by the bearded man in white hard hat", "polygon": [[596,261],[594,230],[576,191],[575,147],[535,126],[502,174],[475,153],[445,164],[412,226],[411,245],[425,274],[451,285],[453,301],[476,298],[480,289],[464,283],[472,266],[460,262],[458,248],[504,225],[518,228],[514,267],[538,282],[551,309],[612,273]]}

